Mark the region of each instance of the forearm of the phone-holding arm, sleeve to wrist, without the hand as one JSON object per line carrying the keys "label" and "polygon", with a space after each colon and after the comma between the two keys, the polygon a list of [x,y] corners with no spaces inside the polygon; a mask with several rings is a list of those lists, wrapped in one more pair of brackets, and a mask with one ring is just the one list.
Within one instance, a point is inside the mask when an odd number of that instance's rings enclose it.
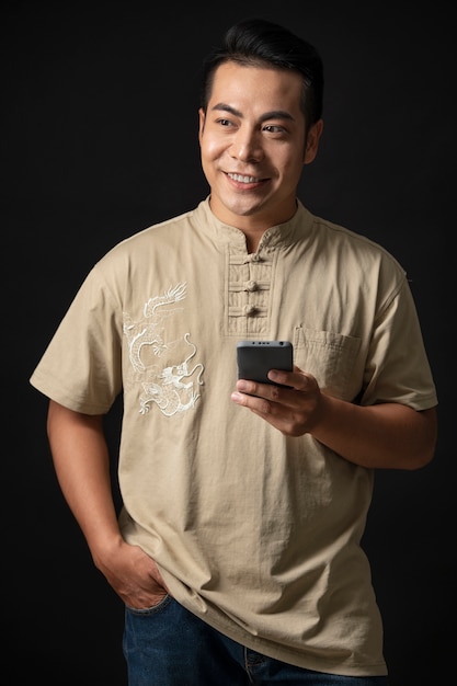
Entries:
{"label": "forearm of the phone-holding arm, sleeve to wrist, without the hand", "polygon": [[416,412],[398,403],[355,405],[321,397],[311,435],[345,459],[377,469],[419,469],[434,456],[435,409]]}

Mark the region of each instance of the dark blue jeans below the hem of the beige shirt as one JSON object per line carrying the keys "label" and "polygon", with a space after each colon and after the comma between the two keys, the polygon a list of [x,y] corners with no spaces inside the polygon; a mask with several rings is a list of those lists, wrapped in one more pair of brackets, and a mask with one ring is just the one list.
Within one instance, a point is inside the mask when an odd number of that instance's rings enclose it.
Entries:
{"label": "dark blue jeans below the hem of the beige shirt", "polygon": [[295,667],[240,645],[172,597],[151,609],[126,608],[129,686],[388,686],[385,676],[338,676]]}

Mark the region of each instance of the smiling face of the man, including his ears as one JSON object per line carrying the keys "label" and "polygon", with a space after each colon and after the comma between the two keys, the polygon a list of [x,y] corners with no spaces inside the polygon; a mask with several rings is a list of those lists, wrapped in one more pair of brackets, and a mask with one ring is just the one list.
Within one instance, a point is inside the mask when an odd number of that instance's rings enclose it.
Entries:
{"label": "smiling face of the man, including his ears", "polygon": [[226,224],[267,228],[294,215],[321,130],[321,123],[311,127],[307,149],[301,87],[292,71],[235,62],[216,70],[206,116],[199,111],[199,144],[210,206]]}

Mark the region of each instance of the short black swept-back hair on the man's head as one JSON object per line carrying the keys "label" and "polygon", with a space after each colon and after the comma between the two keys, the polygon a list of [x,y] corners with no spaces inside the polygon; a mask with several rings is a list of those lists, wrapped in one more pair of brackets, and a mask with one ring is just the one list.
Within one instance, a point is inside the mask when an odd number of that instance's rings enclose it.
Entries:
{"label": "short black swept-back hair on the man's head", "polygon": [[263,19],[244,19],[225,34],[203,62],[201,106],[206,112],[216,69],[227,61],[294,70],[302,76],[301,110],[307,126],[322,116],[323,64],[313,45],[284,26]]}

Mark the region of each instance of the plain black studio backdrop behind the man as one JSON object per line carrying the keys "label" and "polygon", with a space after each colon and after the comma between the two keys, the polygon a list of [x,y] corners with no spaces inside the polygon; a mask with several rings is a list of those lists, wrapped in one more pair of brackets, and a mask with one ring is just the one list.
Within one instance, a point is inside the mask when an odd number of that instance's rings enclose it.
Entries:
{"label": "plain black studio backdrop behind the man", "polygon": [[[324,60],[325,128],[301,199],[382,243],[411,279],[438,390],[439,442],[426,468],[377,473],[365,547],[391,686],[447,683],[436,674],[455,671],[453,14],[442,0],[3,1],[5,683],[126,684],[123,607],[57,487],[46,400],[28,377],[94,261],[207,194],[199,66],[247,15],[297,31]],[[116,411],[113,450],[115,419]]]}

